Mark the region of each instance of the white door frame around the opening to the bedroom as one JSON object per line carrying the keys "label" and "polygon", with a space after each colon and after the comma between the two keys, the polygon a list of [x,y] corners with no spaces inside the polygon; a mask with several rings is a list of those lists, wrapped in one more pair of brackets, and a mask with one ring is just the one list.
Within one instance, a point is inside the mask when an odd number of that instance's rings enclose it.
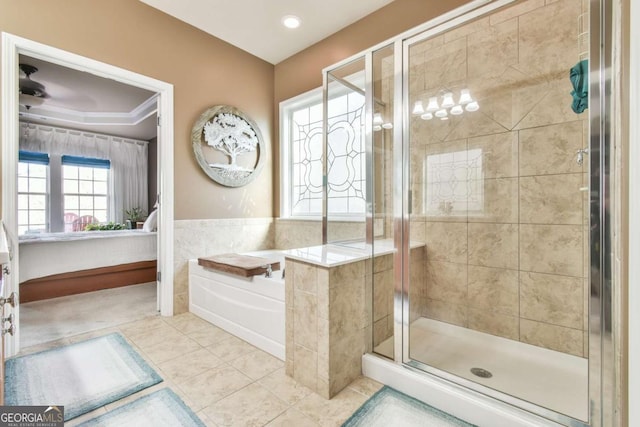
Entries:
{"label": "white door frame around the opening to the bedroom", "polygon": [[[158,93],[158,300],[163,316],[173,315],[173,85],[124,68],[96,61],[62,49],[2,33],[2,220],[13,258],[5,286],[6,294],[19,294],[19,245],[17,224],[17,163],[19,136],[18,55],[24,54],[79,71]],[[12,95],[13,94],[13,95]],[[19,306],[15,309],[17,333],[7,336],[6,356],[19,351]]]}

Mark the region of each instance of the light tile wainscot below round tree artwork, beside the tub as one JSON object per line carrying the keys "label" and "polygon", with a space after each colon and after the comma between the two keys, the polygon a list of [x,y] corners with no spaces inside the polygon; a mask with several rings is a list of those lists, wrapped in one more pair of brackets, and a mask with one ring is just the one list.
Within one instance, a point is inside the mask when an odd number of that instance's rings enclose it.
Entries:
{"label": "light tile wainscot below round tree artwork, beside the tub", "polygon": [[174,222],[174,313],[189,310],[190,259],[275,246],[273,218],[180,220]]}

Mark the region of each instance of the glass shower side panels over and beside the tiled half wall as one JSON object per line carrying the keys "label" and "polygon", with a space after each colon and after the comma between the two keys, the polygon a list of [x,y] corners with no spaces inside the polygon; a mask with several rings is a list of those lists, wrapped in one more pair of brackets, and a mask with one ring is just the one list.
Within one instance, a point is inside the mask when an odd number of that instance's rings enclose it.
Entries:
{"label": "glass shower side panels over and beside the tiled half wall", "polygon": [[[401,171],[394,144],[402,115],[394,108],[394,44],[336,65],[325,74],[325,243],[364,254],[367,352],[393,359],[394,299],[401,283],[402,253],[394,246],[401,208]],[[320,159],[320,156],[317,156]],[[398,178],[398,175],[400,178]],[[398,183],[399,185],[395,185]],[[356,252],[358,253],[358,252]],[[398,260],[399,262],[396,262]],[[398,294],[399,295],[399,294]]]}

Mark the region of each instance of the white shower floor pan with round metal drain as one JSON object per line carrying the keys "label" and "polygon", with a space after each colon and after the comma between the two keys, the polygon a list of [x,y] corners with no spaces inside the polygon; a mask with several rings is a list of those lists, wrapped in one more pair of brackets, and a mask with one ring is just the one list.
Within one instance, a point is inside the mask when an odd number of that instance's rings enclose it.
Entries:
{"label": "white shower floor pan with round metal drain", "polygon": [[[414,321],[410,334],[413,360],[553,411],[587,418],[585,358],[426,318]],[[374,351],[390,355],[392,346],[393,337]],[[473,368],[488,371],[491,377],[474,375]]]}

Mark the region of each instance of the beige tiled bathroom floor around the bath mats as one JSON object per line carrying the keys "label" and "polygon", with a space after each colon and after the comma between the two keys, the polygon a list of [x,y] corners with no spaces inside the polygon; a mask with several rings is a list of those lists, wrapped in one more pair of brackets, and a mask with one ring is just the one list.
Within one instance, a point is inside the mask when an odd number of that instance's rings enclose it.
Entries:
{"label": "beige tiled bathroom floor around the bath mats", "polygon": [[21,354],[120,332],[164,381],[66,423],[75,426],[170,387],[208,426],[340,426],[382,385],[365,377],[325,400],[284,362],[191,313],[147,317],[24,349]]}

